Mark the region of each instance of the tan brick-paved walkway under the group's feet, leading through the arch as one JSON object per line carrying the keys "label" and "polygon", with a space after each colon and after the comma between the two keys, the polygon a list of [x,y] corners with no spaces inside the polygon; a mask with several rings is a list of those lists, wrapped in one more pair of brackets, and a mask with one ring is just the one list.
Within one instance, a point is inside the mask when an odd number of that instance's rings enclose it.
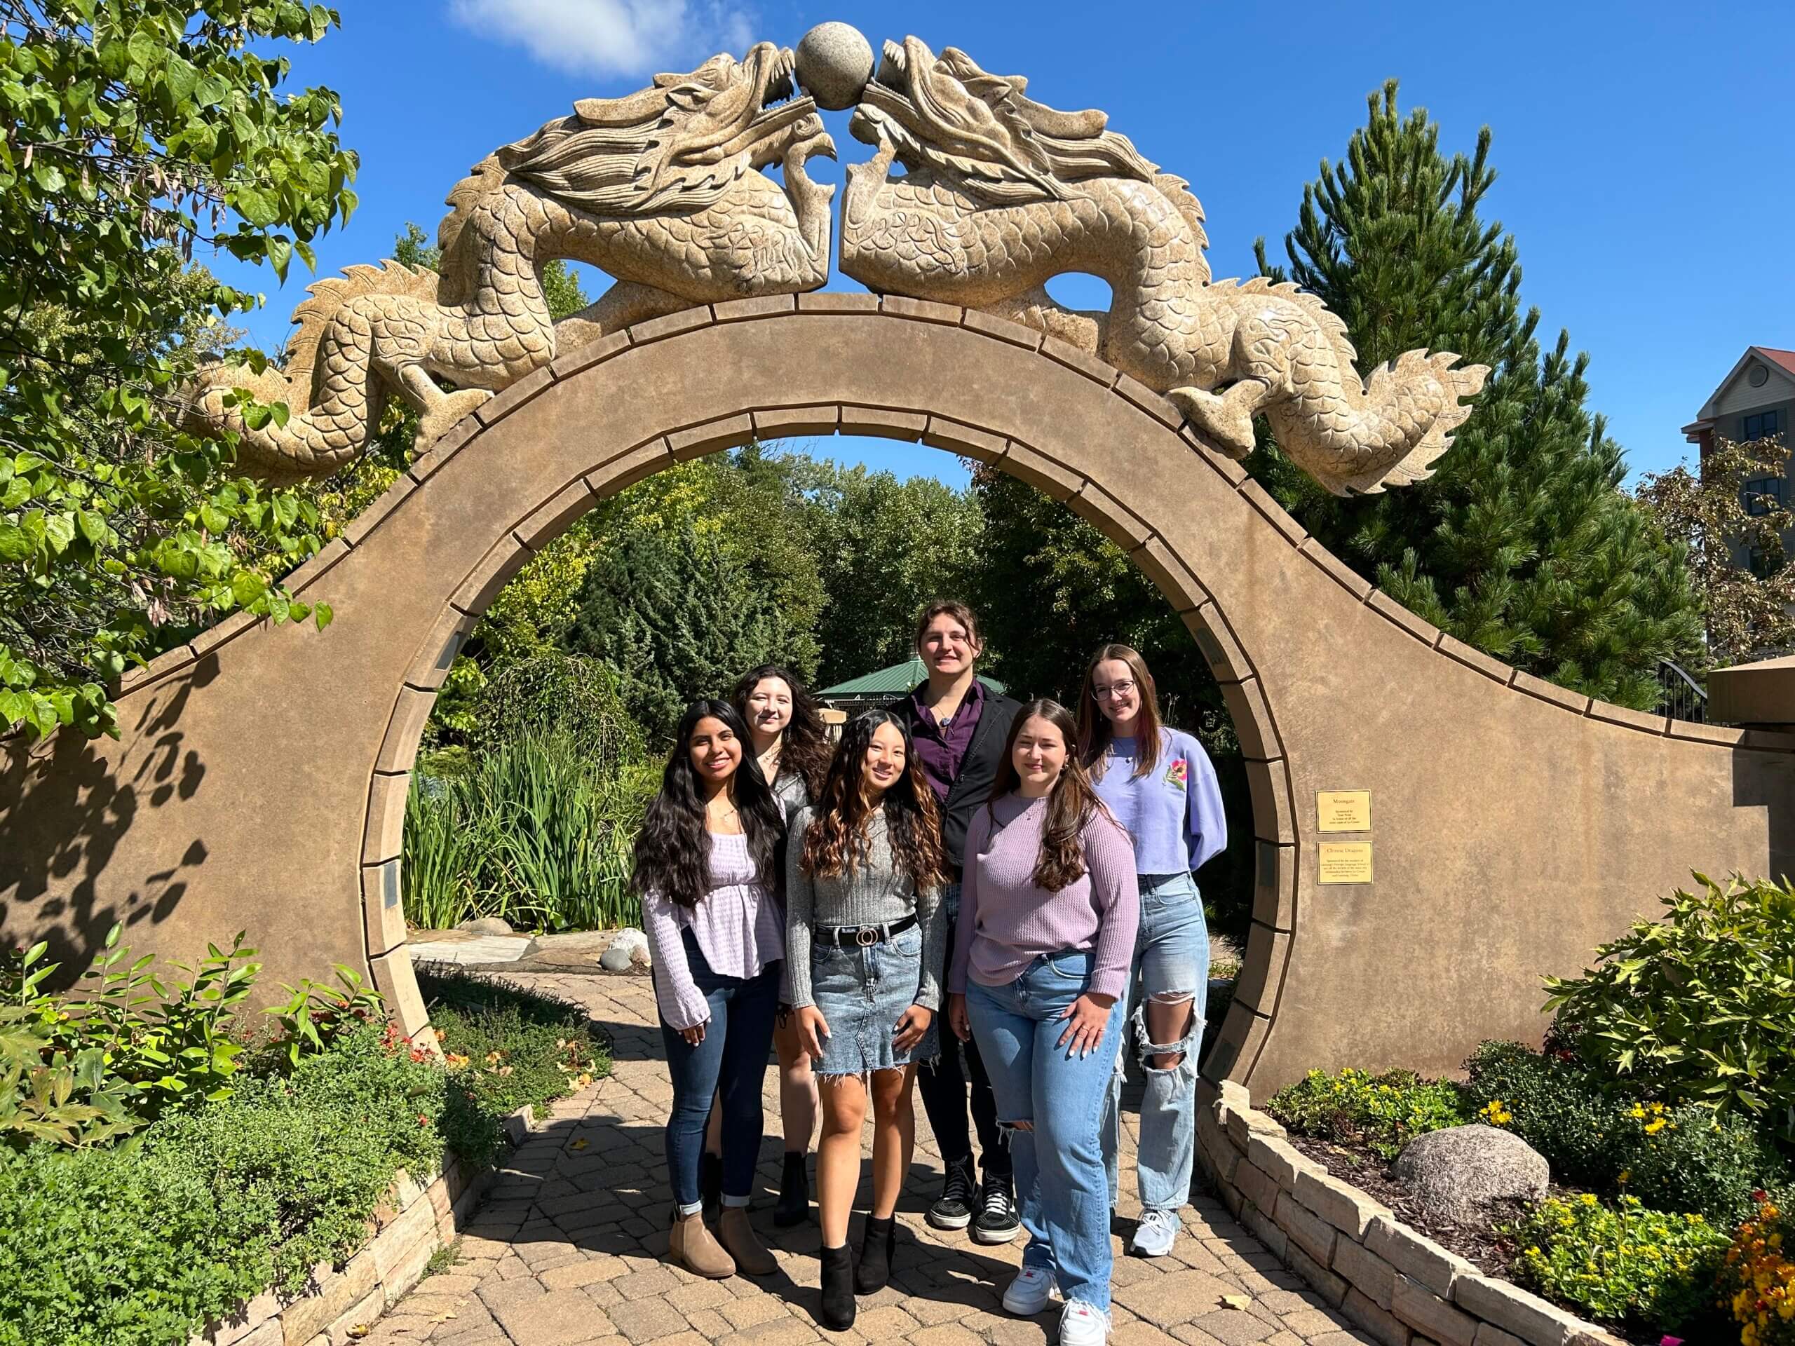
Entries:
{"label": "tan brick-paved walkway under the group's feet, leading through the arch", "polygon": [[[519,975],[521,983],[585,1005],[610,1032],[610,1079],[556,1104],[544,1131],[513,1156],[461,1238],[456,1267],[422,1281],[364,1337],[368,1346],[799,1346],[815,1341],[910,1346],[1046,1346],[1057,1305],[1036,1319],[1003,1312],[998,1298],[1021,1260],[1021,1240],[984,1247],[966,1233],[923,1220],[939,1193],[941,1156],[917,1106],[917,1154],[898,1202],[903,1231],[892,1283],[860,1299],[851,1332],[817,1326],[815,1224],[775,1229],[777,1134],[761,1145],[765,1195],[754,1222],[779,1256],[768,1280],[707,1281],[670,1267],[668,1184],[661,1127],[673,1089],[661,1061],[653,989],[646,976]],[[775,1075],[766,1073],[768,1132],[777,1132]],[[1124,1123],[1131,1127],[1133,1114]],[[869,1129],[871,1140],[871,1129]],[[871,1152],[871,1150],[869,1150]],[[1133,1134],[1124,1154],[1133,1156]],[[1127,1192],[1125,1235],[1138,1210]],[[865,1210],[863,1183],[858,1208]],[[853,1237],[858,1237],[858,1219]],[[1124,1258],[1116,1238],[1115,1346],[1352,1346],[1370,1342],[1325,1303],[1226,1208],[1199,1199],[1185,1208],[1185,1233],[1165,1258]],[[1222,1296],[1246,1296],[1230,1308]]]}

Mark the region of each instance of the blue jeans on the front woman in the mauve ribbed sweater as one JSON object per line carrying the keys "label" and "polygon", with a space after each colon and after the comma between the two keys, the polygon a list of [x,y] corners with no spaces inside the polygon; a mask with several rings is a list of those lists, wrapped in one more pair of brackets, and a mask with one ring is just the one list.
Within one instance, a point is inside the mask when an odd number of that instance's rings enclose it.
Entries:
{"label": "blue jeans on the front woman in the mauve ribbed sweater", "polygon": [[1023,1265],[1055,1271],[1068,1299],[1109,1312],[1102,1122],[1122,1016],[1109,1012],[1102,1043],[1088,1057],[1059,1046],[1066,1032],[1061,1014],[1090,980],[1090,953],[1048,953],[1009,985],[968,982],[966,1014],[991,1075],[998,1120],[1032,1123],[1030,1131],[1009,1132],[1029,1231]]}

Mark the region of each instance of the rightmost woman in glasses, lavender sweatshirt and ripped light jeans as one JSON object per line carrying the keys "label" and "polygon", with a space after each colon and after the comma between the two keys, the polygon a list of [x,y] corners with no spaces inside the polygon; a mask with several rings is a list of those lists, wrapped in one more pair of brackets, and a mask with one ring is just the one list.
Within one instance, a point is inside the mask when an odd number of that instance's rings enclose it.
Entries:
{"label": "rightmost woman in glasses, lavender sweatshirt and ripped light jeans", "polygon": [[[1147,1091],[1140,1102],[1140,1224],[1131,1249],[1163,1256],[1178,1242],[1197,1150],[1197,1044],[1210,978],[1210,930],[1192,870],[1228,845],[1215,766],[1190,734],[1160,723],[1147,660],[1106,644],[1079,693],[1079,759],[1134,840],[1140,933],[1124,1023],[1138,1036]],[[1124,1037],[1127,1028],[1124,1028]],[[1109,1202],[1118,1186],[1122,1053],[1104,1122]]]}

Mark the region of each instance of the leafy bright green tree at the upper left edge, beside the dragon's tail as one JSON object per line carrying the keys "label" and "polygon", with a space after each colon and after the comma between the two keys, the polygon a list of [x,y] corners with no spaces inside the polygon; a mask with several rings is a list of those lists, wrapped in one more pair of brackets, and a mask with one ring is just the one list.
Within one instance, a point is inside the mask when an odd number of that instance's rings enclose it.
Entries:
{"label": "leafy bright green tree at the upper left edge, beside the dragon's tail", "polygon": [[311,614],[253,558],[316,551],[316,508],[169,420],[212,323],[258,303],[192,249],[285,278],[355,205],[337,97],[280,90],[278,45],[336,22],[296,0],[0,4],[0,734],[117,732],[127,666],[233,608]]}

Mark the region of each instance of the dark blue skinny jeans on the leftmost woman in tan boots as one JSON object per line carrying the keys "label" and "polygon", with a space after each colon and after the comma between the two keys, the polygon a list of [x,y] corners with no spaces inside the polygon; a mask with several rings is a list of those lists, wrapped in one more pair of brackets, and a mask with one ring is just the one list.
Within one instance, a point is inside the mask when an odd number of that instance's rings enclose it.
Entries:
{"label": "dark blue skinny jeans on the leftmost woman in tan boots", "polygon": [[704,1125],[711,1118],[711,1098],[722,1095],[723,1199],[736,1197],[731,1204],[747,1204],[761,1156],[761,1080],[774,1044],[781,964],[768,964],[759,976],[747,980],[722,976],[711,971],[693,933],[684,933],[691,980],[711,1007],[711,1021],[696,1046],[666,1019],[661,1021],[668,1073],[673,1077],[673,1113],[666,1125],[668,1181],[680,1206],[698,1204]]}

